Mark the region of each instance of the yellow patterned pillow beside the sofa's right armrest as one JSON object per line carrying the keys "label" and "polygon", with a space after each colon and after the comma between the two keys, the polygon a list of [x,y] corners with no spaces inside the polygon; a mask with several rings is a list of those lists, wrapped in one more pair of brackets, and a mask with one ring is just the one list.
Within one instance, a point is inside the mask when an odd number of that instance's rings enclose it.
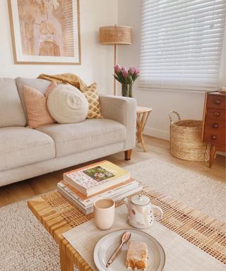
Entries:
{"label": "yellow patterned pillow beside the sofa's right armrest", "polygon": [[100,100],[97,90],[97,83],[93,83],[86,88],[82,88],[81,92],[85,95],[89,103],[89,111],[87,119],[101,119]]}

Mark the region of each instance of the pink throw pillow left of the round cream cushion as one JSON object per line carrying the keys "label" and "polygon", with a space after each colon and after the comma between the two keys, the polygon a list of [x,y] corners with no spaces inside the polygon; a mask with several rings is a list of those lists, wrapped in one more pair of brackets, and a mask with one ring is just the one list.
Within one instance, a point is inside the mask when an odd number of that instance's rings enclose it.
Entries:
{"label": "pink throw pillow left of the round cream cushion", "polygon": [[28,114],[28,126],[38,128],[56,122],[47,109],[47,95],[56,87],[57,83],[50,83],[45,95],[43,95],[39,90],[23,85],[23,100]]}

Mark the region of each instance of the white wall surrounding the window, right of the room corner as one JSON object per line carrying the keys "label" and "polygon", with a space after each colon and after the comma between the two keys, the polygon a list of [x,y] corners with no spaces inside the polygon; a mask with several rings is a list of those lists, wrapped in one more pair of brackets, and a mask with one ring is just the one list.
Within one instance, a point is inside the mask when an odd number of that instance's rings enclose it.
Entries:
{"label": "white wall surrounding the window, right of the room corner", "polygon": [[[139,43],[141,27],[141,0],[121,0],[118,6],[118,24],[133,28],[133,44],[119,47],[118,63],[139,68]],[[176,110],[182,119],[202,119],[204,93],[140,90],[138,80],[133,88],[134,97],[141,106],[153,107],[145,133],[169,139],[169,112]],[[120,92],[120,85],[118,85]]]}

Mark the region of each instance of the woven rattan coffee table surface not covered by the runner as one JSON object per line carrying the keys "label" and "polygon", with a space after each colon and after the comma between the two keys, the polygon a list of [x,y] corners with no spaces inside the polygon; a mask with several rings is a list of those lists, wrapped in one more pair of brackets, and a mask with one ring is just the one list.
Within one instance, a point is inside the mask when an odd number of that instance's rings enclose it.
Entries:
{"label": "woven rattan coffee table surface not covered by the runner", "polygon": [[[205,251],[222,263],[226,263],[225,223],[214,219],[202,212],[188,207],[168,195],[158,193],[150,188],[141,192],[151,199],[151,203],[162,208],[164,216],[160,224],[171,229],[184,239]],[[117,202],[117,207],[124,204]],[[57,243],[64,243],[67,252],[73,258],[73,263],[79,270],[92,270],[78,252],[64,239],[69,229],[88,222],[93,214],[83,215],[74,205],[69,203],[61,194],[50,192],[28,201],[28,207],[40,223],[49,231]]]}

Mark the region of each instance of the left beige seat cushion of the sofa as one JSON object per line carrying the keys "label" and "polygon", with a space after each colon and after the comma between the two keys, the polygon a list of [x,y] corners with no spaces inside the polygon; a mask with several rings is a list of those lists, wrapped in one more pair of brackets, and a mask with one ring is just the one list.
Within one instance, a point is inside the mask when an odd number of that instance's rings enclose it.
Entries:
{"label": "left beige seat cushion of the sofa", "polygon": [[25,127],[1,128],[0,170],[52,159],[56,155],[49,135]]}

